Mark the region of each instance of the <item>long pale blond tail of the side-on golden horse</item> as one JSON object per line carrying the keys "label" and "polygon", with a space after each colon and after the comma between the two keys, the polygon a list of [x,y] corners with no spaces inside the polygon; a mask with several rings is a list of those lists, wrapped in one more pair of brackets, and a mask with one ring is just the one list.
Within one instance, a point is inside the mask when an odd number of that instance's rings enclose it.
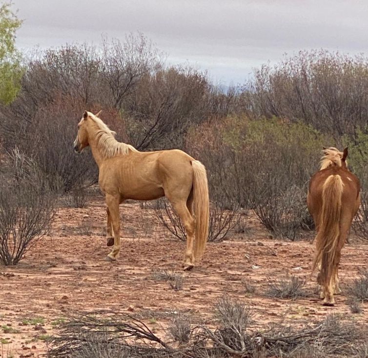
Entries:
{"label": "long pale blond tail of the side-on golden horse", "polygon": [[209,196],[207,174],[204,165],[198,160],[192,161],[193,197],[195,213],[194,256],[200,260],[203,256],[208,237]]}

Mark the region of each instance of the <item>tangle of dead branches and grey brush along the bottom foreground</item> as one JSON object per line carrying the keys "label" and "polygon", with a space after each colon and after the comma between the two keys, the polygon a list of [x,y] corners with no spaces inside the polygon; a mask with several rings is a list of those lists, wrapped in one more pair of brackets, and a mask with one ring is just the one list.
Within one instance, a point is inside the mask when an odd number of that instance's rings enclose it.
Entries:
{"label": "tangle of dead branches and grey brush along the bottom foreground", "polygon": [[[75,315],[61,325],[58,336],[49,344],[47,357],[87,358],[91,352],[98,357],[137,358],[366,357],[367,327],[354,320],[328,315],[299,329],[283,323],[253,329],[250,321],[244,320],[249,317],[244,315],[244,309],[227,303],[229,309],[223,313],[230,313],[232,319],[224,317],[217,329],[197,326],[189,341],[177,348],[157,337],[141,320],[125,313],[100,311]],[[187,324],[184,326],[181,333],[188,332]]]}

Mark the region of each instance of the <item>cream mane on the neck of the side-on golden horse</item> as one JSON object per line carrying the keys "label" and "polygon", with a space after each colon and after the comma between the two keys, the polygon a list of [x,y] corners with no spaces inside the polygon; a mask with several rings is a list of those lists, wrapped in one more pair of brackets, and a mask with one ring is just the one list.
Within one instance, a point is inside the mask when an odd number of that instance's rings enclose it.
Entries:
{"label": "cream mane on the neck of the side-on golden horse", "polygon": [[93,113],[88,113],[97,127],[96,140],[97,148],[105,158],[112,158],[119,154],[127,155],[129,151],[137,151],[130,144],[118,142],[115,139],[116,132],[111,131],[99,117]]}

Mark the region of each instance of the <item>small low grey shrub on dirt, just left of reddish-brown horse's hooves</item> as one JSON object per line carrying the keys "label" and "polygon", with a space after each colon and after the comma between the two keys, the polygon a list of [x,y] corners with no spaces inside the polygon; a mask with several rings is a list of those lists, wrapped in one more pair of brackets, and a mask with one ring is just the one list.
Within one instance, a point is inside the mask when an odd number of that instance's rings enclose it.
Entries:
{"label": "small low grey shrub on dirt, just left of reddish-brown horse's hooves", "polygon": [[268,297],[296,300],[300,297],[307,296],[307,293],[303,289],[305,284],[306,280],[297,276],[286,276],[277,281],[268,280],[269,287],[266,291],[266,295]]}

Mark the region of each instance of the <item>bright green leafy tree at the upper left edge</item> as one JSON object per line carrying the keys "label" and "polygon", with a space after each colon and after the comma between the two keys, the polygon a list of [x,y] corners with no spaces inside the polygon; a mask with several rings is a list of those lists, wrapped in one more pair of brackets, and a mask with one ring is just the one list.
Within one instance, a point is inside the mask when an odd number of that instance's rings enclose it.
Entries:
{"label": "bright green leafy tree at the upper left edge", "polygon": [[20,90],[23,71],[20,52],[15,47],[15,33],[22,20],[11,9],[11,3],[0,4],[0,102],[11,103]]}

